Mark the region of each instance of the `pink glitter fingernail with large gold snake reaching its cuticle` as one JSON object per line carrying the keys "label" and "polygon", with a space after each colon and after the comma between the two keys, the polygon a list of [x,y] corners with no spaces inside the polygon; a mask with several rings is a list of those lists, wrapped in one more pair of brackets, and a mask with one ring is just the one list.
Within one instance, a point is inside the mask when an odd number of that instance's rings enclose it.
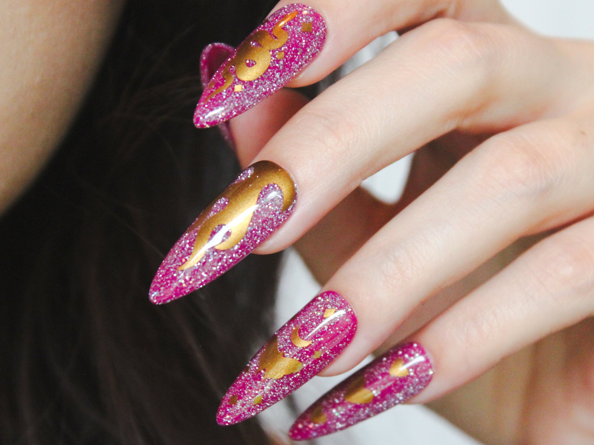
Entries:
{"label": "pink glitter fingernail with large gold snake reaching its cuticle", "polygon": [[297,190],[271,161],[242,171],[175,243],[149,290],[155,304],[183,297],[227,272],[292,214]]}

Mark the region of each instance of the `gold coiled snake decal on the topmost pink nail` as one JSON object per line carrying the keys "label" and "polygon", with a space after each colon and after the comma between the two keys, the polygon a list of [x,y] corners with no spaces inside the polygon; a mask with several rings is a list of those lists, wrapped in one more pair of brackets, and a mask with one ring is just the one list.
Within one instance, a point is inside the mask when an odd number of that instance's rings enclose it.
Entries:
{"label": "gold coiled snake decal on the topmost pink nail", "polygon": [[[297,14],[298,11],[290,12],[274,26],[272,34],[276,39],[266,30],[256,31],[249,39],[246,39],[237,49],[237,53],[233,56],[233,59],[223,69],[221,75],[225,79],[225,83],[210,93],[206,100],[210,100],[211,97],[216,96],[231,86],[233,83],[233,74],[229,70],[232,66],[235,66],[235,75],[239,80],[255,80],[263,75],[272,60],[270,51],[280,48],[289,40],[289,33],[283,29],[283,26],[293,20]],[[253,46],[252,42],[257,42],[260,46]],[[254,65],[248,66],[247,61],[254,61]],[[214,80],[208,85],[208,88],[213,87]]]}

